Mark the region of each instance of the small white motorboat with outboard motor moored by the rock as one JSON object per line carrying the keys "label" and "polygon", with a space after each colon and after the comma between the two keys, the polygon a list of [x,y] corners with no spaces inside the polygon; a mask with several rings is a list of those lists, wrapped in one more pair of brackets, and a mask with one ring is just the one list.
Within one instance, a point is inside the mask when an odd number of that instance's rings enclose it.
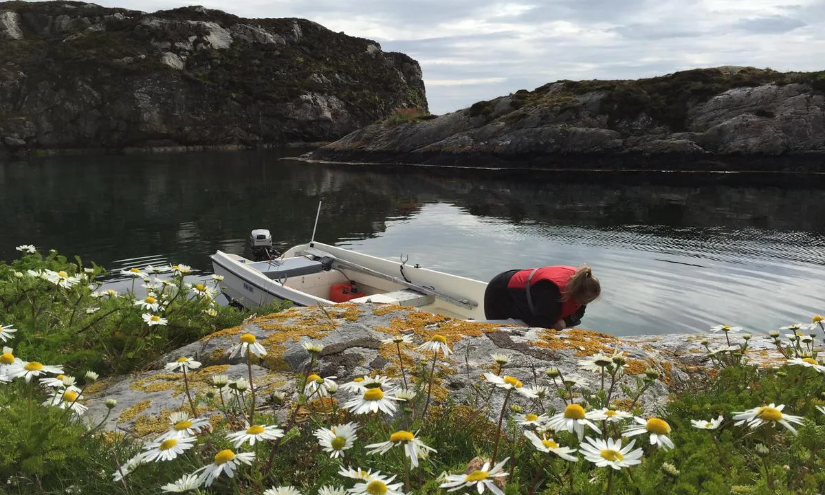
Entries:
{"label": "small white motorboat with outboard motor moored by the rock", "polygon": [[246,308],[273,300],[299,306],[373,302],[485,320],[486,282],[318,242],[267,259],[266,243],[271,247],[268,231],[252,231],[252,245],[264,253],[263,260],[222,251],[210,257],[214,273],[224,276],[224,294]]}

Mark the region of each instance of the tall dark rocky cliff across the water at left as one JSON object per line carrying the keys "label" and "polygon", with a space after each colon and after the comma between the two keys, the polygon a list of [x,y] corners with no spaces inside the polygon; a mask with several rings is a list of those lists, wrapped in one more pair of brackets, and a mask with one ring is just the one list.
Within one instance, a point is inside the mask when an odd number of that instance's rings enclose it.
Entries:
{"label": "tall dark rocky cliff across the water at left", "polygon": [[303,19],[0,3],[0,157],[330,141],[426,107],[421,68]]}

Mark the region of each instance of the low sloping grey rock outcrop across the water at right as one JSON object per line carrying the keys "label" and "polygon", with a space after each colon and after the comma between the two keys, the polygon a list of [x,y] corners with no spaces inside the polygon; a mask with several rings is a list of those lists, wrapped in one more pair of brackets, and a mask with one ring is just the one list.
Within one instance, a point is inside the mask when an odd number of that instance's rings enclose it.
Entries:
{"label": "low sloping grey rock outcrop across the water at right", "polygon": [[437,118],[411,115],[407,122],[370,125],[309,158],[821,172],[823,90],[825,73],[729,67],[638,81],[554,82]]}

